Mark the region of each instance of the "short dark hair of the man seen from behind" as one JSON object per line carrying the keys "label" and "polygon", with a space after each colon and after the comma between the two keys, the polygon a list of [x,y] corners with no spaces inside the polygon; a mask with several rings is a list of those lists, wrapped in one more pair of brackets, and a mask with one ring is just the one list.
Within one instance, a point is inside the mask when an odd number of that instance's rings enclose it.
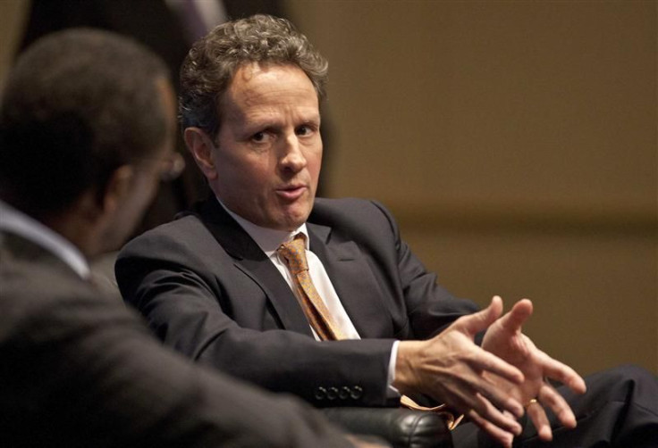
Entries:
{"label": "short dark hair of the man seen from behind", "polygon": [[20,55],[0,106],[0,195],[33,216],[105,190],[122,164],[162,145],[164,62],[97,29],[42,37]]}

